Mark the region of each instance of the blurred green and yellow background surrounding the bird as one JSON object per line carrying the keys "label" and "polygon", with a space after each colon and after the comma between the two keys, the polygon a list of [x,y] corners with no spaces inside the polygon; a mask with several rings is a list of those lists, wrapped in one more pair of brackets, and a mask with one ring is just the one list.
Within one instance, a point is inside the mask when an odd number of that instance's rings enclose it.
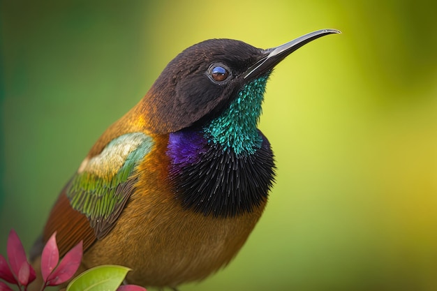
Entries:
{"label": "blurred green and yellow background surrounding the bird", "polygon": [[[150,2],[150,3],[149,3]],[[207,38],[272,47],[276,186],[237,258],[189,290],[437,290],[436,1],[1,1],[0,253],[163,67]]]}

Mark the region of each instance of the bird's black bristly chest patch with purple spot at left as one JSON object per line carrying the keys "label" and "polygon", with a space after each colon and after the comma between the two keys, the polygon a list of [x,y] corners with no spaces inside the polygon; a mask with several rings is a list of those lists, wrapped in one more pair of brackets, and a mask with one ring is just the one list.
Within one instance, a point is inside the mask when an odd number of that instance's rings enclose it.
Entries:
{"label": "bird's black bristly chest patch with purple spot at left", "polygon": [[236,154],[201,133],[171,133],[168,177],[184,209],[205,216],[232,217],[267,200],[274,179],[274,158],[259,132],[256,149]]}

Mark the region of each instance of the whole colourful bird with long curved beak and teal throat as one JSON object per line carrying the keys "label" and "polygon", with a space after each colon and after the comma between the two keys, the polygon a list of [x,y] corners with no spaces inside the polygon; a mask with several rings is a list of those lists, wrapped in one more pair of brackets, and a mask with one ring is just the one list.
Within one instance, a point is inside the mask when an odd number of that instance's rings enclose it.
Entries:
{"label": "whole colourful bird with long curved beak and teal throat", "polygon": [[272,70],[321,29],[260,49],[215,38],[182,51],[98,138],[54,202],[31,258],[57,233],[62,257],[83,241],[80,271],[131,268],[126,282],[178,288],[225,267],[274,184],[258,129]]}

